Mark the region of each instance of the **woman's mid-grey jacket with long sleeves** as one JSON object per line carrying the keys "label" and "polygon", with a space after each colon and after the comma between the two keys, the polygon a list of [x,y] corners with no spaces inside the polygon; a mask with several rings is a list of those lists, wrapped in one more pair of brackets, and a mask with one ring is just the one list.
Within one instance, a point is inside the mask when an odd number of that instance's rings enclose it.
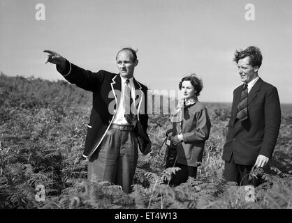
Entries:
{"label": "woman's mid-grey jacket with long sleeves", "polygon": [[[173,133],[177,134],[176,125],[173,123]],[[177,145],[177,163],[196,167],[197,162],[202,162],[205,141],[209,139],[211,129],[207,109],[200,102],[184,107],[182,120],[182,137],[184,141]]]}

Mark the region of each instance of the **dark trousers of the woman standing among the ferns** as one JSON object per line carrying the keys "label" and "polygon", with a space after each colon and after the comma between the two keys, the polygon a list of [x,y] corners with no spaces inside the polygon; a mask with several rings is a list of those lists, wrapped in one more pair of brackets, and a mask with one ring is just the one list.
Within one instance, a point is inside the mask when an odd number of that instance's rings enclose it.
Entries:
{"label": "dark trousers of the woman standing among the ferns", "polygon": [[197,167],[186,166],[183,164],[176,163],[175,167],[180,167],[179,171],[176,171],[175,174],[170,179],[170,186],[177,186],[181,183],[185,183],[189,176],[196,178],[197,176]]}

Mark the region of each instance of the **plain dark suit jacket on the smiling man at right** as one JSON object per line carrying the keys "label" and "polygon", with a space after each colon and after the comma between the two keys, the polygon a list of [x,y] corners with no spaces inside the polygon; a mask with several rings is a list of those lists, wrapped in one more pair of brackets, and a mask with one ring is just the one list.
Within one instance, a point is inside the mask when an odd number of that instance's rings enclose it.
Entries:
{"label": "plain dark suit jacket on the smiling man at right", "polygon": [[238,121],[236,113],[242,87],[233,91],[223,160],[229,162],[233,153],[236,164],[252,166],[258,155],[272,157],[281,124],[281,108],[275,86],[260,78],[247,96],[247,120]]}

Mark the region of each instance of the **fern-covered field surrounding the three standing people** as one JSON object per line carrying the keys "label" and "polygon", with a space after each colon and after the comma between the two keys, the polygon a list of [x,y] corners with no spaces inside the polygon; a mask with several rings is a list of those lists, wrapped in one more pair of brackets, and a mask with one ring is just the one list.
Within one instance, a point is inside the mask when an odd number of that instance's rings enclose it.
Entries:
{"label": "fern-covered field surrounding the three standing people", "polygon": [[[212,130],[196,180],[162,183],[159,146],[168,116],[149,116],[153,151],[139,156],[133,192],[87,180],[82,160],[92,95],[65,81],[0,75],[0,208],[292,208],[292,105],[282,105],[282,125],[263,183],[249,201],[244,187],[221,178],[230,103],[204,103]],[[165,147],[161,149],[161,152]]]}

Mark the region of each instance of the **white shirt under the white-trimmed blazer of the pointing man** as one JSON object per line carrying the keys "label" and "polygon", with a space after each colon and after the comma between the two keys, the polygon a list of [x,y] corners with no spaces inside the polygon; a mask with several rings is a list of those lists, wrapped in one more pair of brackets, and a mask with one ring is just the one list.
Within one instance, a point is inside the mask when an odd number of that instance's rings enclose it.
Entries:
{"label": "white shirt under the white-trimmed blazer of the pointing man", "polygon": [[[131,96],[133,99],[134,106],[136,107],[136,101],[135,101],[135,86],[133,82],[133,77],[131,78],[124,78],[121,77],[121,98],[119,100],[119,106],[117,107],[117,113],[115,114],[115,118],[112,121],[112,123],[115,123],[117,125],[129,125],[129,123],[126,121],[126,118],[124,117],[125,109],[124,109],[124,89],[126,86],[126,79],[129,79],[130,89],[131,89]],[[136,118],[134,120],[134,125],[136,125]]]}

